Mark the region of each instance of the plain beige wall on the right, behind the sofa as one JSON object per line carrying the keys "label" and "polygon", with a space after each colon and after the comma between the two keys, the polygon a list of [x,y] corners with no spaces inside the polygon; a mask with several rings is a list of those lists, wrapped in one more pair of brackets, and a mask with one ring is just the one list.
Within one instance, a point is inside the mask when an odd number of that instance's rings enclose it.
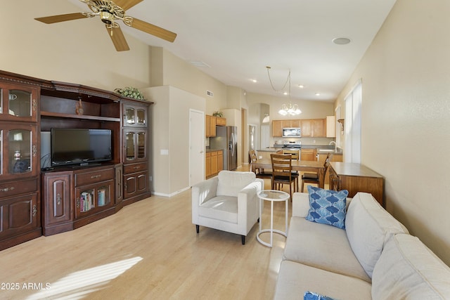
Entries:
{"label": "plain beige wall on the right, behind the sofa", "polygon": [[450,1],[397,0],[352,78],[362,79],[361,162],[387,210],[450,264]]}

